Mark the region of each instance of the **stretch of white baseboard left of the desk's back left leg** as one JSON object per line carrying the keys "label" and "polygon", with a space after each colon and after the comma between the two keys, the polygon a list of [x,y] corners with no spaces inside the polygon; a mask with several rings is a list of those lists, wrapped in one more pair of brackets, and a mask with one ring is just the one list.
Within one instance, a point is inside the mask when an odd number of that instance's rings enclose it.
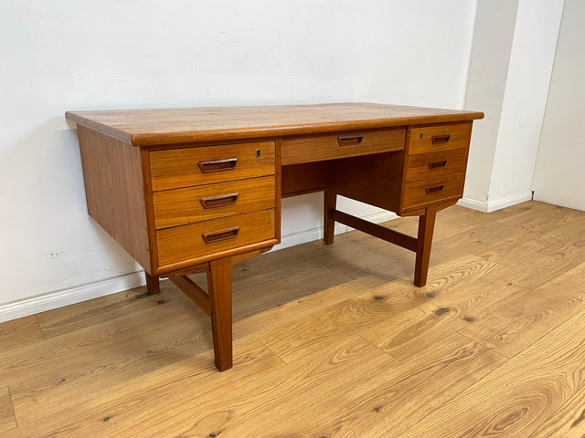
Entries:
{"label": "stretch of white baseboard left of the desk's back left leg", "polygon": [[46,312],[53,308],[62,308],[70,304],[80,303],[88,299],[104,297],[122,292],[133,287],[144,286],[144,271],[134,272],[125,276],[108,278],[88,285],[51,292],[47,295],[32,297],[0,306],[0,322],[28,317],[36,313]]}

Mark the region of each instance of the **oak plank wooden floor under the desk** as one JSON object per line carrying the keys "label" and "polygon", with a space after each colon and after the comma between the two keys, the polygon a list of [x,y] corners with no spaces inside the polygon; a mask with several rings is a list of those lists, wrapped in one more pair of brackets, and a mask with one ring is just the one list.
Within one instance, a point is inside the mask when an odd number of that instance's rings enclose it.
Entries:
{"label": "oak plank wooden floor under the desk", "polygon": [[584,436],[585,213],[437,220],[423,288],[358,232],[235,266],[223,373],[168,281],[0,324],[0,436]]}

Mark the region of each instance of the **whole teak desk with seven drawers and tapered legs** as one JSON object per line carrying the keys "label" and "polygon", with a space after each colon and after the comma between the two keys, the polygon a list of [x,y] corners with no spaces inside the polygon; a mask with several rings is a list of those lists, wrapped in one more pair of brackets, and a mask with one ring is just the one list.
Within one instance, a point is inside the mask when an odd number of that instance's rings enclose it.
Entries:
{"label": "whole teak desk with seven drawers and tapered legs", "polygon": [[[218,370],[232,366],[231,266],[281,238],[281,197],[324,192],[335,222],[416,253],[424,286],[435,214],[463,195],[482,112],[373,103],[67,112],[78,125],[88,212],[144,267],[211,318]],[[412,237],[335,208],[337,194],[418,215]],[[207,272],[207,292],[187,275]]]}

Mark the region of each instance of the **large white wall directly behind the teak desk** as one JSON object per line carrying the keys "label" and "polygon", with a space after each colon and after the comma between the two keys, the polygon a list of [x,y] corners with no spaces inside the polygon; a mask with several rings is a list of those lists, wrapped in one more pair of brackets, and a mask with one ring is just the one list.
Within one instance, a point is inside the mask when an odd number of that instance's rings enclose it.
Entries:
{"label": "large white wall directly behind the teak desk", "polygon": [[[54,306],[50,297],[103,293],[96,284],[131,287],[103,282],[139,269],[86,214],[65,110],[351,100],[462,108],[475,5],[3,0],[0,318]],[[320,198],[283,203],[285,238],[320,224]],[[37,296],[48,298],[26,301]]]}

